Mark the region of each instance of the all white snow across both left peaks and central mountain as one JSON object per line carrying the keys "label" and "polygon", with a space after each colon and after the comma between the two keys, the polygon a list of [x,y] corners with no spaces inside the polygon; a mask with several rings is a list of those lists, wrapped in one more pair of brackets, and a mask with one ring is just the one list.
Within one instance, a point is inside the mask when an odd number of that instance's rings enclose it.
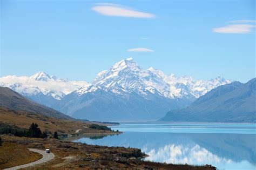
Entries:
{"label": "all white snow across both left peaks and central mountain", "polygon": [[0,78],[0,86],[10,87],[26,96],[42,93],[60,100],[66,94],[76,91],[77,96],[98,89],[111,93],[138,93],[144,97],[147,94],[159,94],[166,98],[198,98],[217,86],[231,83],[217,77],[211,80],[194,80],[192,77],[176,77],[166,75],[163,71],[150,67],[144,70],[132,58],[121,60],[110,70],[97,74],[92,84],[86,81],[70,81],[44,72],[38,72],[31,77],[6,76]]}

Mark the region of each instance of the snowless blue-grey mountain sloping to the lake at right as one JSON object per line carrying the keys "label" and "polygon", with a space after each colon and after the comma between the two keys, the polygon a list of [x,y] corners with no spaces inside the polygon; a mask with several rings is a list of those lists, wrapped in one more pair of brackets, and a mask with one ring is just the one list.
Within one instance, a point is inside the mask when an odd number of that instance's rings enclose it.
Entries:
{"label": "snowless blue-grey mountain sloping to the lake at right", "polygon": [[256,78],[211,90],[190,106],[168,112],[164,121],[256,122]]}

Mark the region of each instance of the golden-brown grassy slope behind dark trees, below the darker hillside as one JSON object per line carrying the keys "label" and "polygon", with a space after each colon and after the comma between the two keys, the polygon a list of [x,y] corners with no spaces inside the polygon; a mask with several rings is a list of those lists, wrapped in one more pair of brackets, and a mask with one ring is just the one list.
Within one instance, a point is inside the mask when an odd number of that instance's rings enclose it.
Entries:
{"label": "golden-brown grassy slope behind dark trees, below the darker hillside", "polygon": [[73,134],[77,130],[79,133],[113,133],[111,131],[94,130],[88,128],[89,121],[67,120],[48,117],[43,114],[29,113],[24,111],[14,111],[5,107],[0,107],[0,123],[16,125],[28,129],[31,123],[37,123],[42,131]]}

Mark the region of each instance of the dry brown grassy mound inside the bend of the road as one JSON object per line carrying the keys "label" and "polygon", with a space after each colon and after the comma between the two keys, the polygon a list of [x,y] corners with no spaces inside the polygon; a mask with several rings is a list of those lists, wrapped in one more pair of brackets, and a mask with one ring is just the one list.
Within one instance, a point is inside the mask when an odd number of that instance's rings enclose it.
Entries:
{"label": "dry brown grassy mound inside the bend of the road", "polygon": [[39,153],[30,152],[24,145],[10,142],[4,142],[0,146],[0,155],[0,169],[28,164],[43,157]]}

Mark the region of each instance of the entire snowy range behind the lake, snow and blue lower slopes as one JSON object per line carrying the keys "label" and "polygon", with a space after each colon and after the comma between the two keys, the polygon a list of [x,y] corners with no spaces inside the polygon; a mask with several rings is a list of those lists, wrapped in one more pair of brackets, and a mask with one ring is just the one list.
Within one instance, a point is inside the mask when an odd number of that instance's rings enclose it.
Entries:
{"label": "entire snowy range behind the lake, snow and blue lower slopes", "polygon": [[190,105],[220,85],[231,83],[217,77],[194,80],[142,69],[132,58],[121,60],[97,74],[91,83],[70,81],[39,72],[31,77],[6,76],[0,86],[52,107],[74,118],[98,121],[157,120],[167,111]]}

